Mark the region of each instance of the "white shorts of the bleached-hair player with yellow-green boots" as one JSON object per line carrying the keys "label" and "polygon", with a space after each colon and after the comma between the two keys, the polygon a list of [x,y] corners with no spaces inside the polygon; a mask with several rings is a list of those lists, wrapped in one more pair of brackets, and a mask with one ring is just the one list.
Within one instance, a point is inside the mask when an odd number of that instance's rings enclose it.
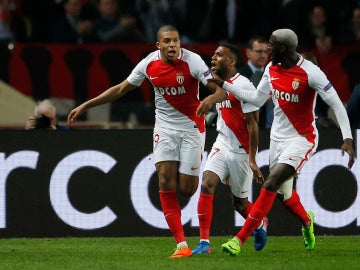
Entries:
{"label": "white shorts of the bleached-hair player with yellow-green boots", "polygon": [[310,143],[305,137],[287,141],[270,141],[270,170],[277,163],[285,163],[294,167],[298,173],[301,167],[316,151],[317,144]]}

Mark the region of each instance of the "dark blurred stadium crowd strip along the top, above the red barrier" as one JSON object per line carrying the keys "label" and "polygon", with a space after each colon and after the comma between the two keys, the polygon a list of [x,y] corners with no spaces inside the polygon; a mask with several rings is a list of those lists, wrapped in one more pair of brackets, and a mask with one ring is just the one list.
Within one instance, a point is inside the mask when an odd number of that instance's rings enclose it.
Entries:
{"label": "dark blurred stadium crowd strip along the top, above the red barrier", "polygon": [[177,26],[183,43],[246,44],[282,27],[300,45],[360,41],[359,0],[0,0],[0,15],[2,43],[151,43],[163,24]]}

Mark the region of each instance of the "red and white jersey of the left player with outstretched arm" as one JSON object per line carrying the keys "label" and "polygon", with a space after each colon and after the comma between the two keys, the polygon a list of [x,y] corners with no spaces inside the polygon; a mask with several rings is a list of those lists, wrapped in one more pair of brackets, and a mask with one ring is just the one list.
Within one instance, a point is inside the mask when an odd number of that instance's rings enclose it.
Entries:
{"label": "red and white jersey of the left player with outstretched arm", "polygon": [[205,116],[197,117],[199,81],[211,78],[209,67],[196,53],[181,48],[174,64],[161,61],[160,51],[150,53],[133,69],[128,82],[140,86],[145,78],[155,92],[155,125],[177,130],[198,127],[205,131]]}

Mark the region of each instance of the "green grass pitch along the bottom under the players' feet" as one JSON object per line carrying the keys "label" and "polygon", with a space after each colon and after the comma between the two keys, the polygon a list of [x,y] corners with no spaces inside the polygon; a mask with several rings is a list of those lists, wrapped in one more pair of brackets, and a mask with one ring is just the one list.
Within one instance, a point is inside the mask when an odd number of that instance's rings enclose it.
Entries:
{"label": "green grass pitch along the bottom under the players' feet", "polygon": [[[212,237],[212,253],[169,259],[172,237],[0,239],[0,269],[360,269],[360,236],[317,236],[314,251],[302,238],[269,237],[257,252],[251,237],[238,257],[221,251],[229,237]],[[198,237],[188,237],[193,248]]]}

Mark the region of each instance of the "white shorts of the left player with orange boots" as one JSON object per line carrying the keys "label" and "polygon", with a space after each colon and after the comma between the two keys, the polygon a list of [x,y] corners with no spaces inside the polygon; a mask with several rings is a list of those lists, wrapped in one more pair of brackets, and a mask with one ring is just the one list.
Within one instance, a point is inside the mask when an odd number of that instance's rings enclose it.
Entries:
{"label": "white shorts of the left player with orange boots", "polygon": [[155,164],[161,161],[178,161],[179,172],[199,176],[205,132],[174,130],[155,127],[153,133],[153,154]]}

